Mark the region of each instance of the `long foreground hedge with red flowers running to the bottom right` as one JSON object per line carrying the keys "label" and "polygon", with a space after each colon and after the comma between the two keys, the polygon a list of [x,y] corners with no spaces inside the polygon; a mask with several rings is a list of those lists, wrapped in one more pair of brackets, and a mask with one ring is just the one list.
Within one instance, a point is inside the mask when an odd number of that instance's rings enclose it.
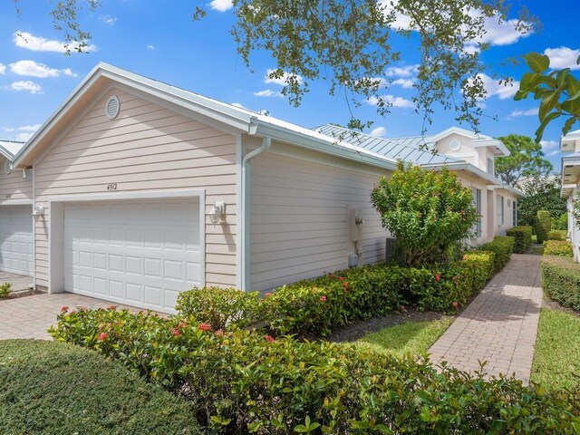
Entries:
{"label": "long foreground hedge with red flowers running to the bottom right", "polygon": [[327,342],[214,332],[192,319],[63,313],[56,340],[191,403],[207,433],[575,433],[580,395]]}

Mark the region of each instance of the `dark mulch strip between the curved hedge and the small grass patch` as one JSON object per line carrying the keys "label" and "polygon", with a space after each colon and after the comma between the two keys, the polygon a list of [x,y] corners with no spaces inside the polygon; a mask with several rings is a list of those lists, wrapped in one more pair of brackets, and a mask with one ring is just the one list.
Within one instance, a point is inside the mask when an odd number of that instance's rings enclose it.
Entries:
{"label": "dark mulch strip between the curved hedge and the small grass patch", "polygon": [[330,336],[329,341],[334,343],[353,342],[354,340],[362,338],[367,333],[375,333],[396,324],[403,324],[405,322],[430,322],[432,320],[440,320],[448,317],[454,316],[433,313],[430,311],[409,310],[405,313],[393,312],[386,314],[384,317],[374,317],[369,320],[362,320],[349,324],[348,326],[335,331]]}

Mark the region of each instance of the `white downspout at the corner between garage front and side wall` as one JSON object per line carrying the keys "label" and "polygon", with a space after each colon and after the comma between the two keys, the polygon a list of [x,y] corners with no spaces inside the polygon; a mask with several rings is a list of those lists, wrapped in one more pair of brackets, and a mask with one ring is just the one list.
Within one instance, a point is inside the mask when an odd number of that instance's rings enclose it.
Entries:
{"label": "white downspout at the corner between garage front and side wall", "polygon": [[[250,132],[250,134],[254,134]],[[241,273],[242,273],[242,288],[241,290],[247,292],[250,286],[250,161],[254,160],[258,155],[270,150],[272,146],[272,138],[266,136],[262,142],[262,146],[256,150],[247,153],[242,160],[242,258],[241,258]]]}

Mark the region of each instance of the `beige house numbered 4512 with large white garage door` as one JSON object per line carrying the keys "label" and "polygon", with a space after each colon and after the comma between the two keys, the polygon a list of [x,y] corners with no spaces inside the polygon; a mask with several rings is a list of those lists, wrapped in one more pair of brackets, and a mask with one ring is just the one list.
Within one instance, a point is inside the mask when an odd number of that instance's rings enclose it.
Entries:
{"label": "beige house numbered 4512 with large white garage door", "polygon": [[[511,227],[517,194],[498,179],[411,151],[480,190],[478,240]],[[370,194],[397,159],[100,63],[15,152],[33,179],[34,285],[171,312],[192,285],[266,290],[381,262]],[[486,206],[501,196],[503,223]]]}

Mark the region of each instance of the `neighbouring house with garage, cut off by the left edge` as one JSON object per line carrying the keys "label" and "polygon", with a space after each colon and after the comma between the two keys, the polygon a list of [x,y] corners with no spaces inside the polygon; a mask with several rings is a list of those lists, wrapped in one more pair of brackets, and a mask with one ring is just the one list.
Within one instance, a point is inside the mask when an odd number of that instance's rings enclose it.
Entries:
{"label": "neighbouring house with garage, cut off by the left edge", "polygon": [[33,180],[13,169],[24,142],[0,140],[0,270],[33,275]]}

